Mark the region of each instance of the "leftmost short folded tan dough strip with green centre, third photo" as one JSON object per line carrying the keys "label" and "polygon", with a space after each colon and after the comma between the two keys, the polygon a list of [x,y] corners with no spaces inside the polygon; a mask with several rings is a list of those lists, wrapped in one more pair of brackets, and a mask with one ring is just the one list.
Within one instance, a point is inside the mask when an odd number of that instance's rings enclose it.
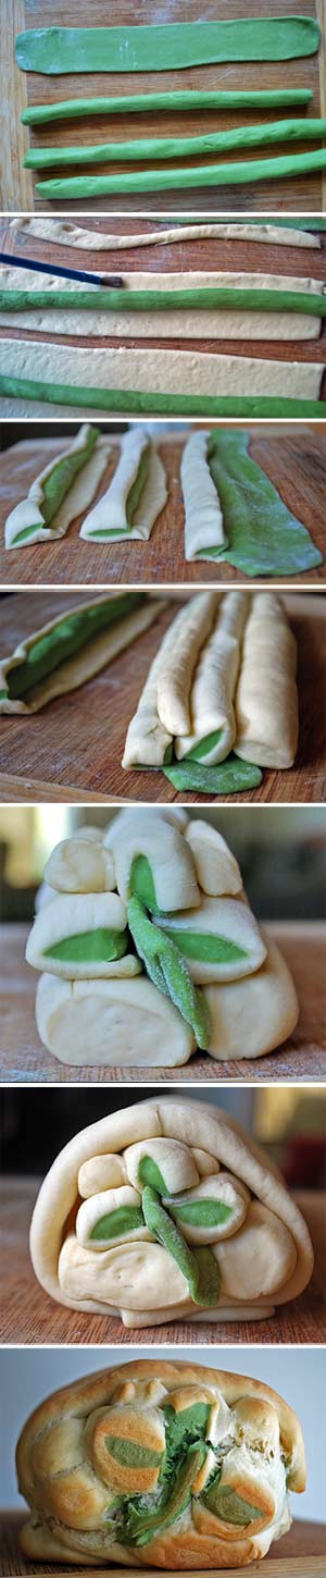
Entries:
{"label": "leftmost short folded tan dough strip with green centre, third photo", "polygon": [[[93,445],[90,445],[90,436]],[[6,548],[24,548],[30,543],[47,543],[65,537],[71,521],[91,503],[107,467],[110,439],[101,439],[96,429],[85,423],[66,450],[49,461],[31,483],[27,499],[20,500],[5,521]],[[77,462],[77,464],[76,464]],[[50,489],[58,484],[58,502],[50,513],[46,503],[44,483]],[[61,481],[60,481],[61,477]],[[54,497],[54,495],[52,495]]]}

